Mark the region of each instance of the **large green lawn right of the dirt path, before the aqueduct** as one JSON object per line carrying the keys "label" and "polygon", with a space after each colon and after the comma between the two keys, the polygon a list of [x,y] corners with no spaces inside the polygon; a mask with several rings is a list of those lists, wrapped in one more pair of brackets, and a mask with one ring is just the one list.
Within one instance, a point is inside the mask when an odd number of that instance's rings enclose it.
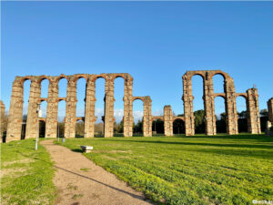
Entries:
{"label": "large green lawn right of the dirt path, before the aqueduct", "polygon": [[65,146],[167,204],[273,200],[273,138],[263,135],[71,138]]}

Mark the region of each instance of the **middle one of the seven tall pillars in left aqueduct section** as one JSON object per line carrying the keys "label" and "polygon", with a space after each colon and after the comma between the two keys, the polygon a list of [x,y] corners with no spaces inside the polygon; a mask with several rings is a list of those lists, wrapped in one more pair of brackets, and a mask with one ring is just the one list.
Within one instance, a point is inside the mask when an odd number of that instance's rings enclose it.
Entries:
{"label": "middle one of the seven tall pillars in left aqueduct section", "polygon": [[66,90],[65,138],[75,138],[76,77],[68,77]]}

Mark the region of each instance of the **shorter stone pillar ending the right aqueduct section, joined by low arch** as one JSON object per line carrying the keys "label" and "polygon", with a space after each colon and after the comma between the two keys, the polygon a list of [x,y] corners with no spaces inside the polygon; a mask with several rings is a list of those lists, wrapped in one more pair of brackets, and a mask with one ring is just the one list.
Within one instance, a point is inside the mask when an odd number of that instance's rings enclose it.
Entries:
{"label": "shorter stone pillar ending the right aqueduct section, joined by low arch", "polygon": [[260,134],[260,118],[258,109],[258,89],[249,88],[247,90],[247,117],[248,117],[248,132],[252,134]]}

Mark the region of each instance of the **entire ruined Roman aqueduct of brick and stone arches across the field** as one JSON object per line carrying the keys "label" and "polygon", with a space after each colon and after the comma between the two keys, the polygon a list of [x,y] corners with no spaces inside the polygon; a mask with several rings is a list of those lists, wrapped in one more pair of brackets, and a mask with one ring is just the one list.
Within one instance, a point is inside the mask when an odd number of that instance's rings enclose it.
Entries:
{"label": "entire ruined Roman aqueduct of brick and stone arches across the field", "polygon": [[[213,76],[222,75],[224,77],[224,93],[214,93]],[[204,108],[206,113],[206,134],[216,135],[216,115],[215,115],[215,97],[225,99],[225,108],[227,113],[227,134],[238,134],[238,113],[236,97],[245,97],[247,103],[248,132],[259,134],[259,109],[258,109],[258,90],[249,88],[246,93],[236,93],[233,79],[221,70],[198,70],[187,71],[183,78],[183,101],[184,117],[174,117],[170,106],[164,107],[164,116],[152,116],[152,100],[149,96],[133,96],[133,77],[126,73],[116,74],[76,74],[73,76],[61,75],[58,77],[51,76],[26,76],[15,77],[12,87],[11,102],[8,115],[8,125],[6,133],[6,142],[19,140],[22,131],[22,116],[24,102],[24,82],[31,81],[30,94],[28,100],[28,110],[26,119],[25,138],[35,138],[37,136],[37,123],[40,120],[45,121],[45,138],[56,138],[57,136],[57,111],[58,102],[66,101],[66,118],[65,118],[65,137],[75,138],[75,125],[77,120],[83,120],[85,123],[84,138],[93,138],[95,134],[95,103],[96,103],[96,79],[103,77],[105,79],[105,116],[104,120],[104,137],[114,136],[114,81],[116,77],[124,78],[124,136],[133,136],[133,102],[136,99],[143,101],[143,135],[152,136],[152,122],[154,119],[164,121],[164,130],[166,136],[173,136],[173,121],[180,118],[185,121],[186,135],[195,135],[194,112],[193,112],[193,95],[191,78],[195,75],[203,78],[204,87]],[[79,78],[86,79],[86,107],[85,117],[76,118],[76,82]],[[60,79],[67,79],[66,97],[59,97],[58,82]],[[49,81],[47,97],[41,97],[41,82],[47,79]],[[38,118],[36,109],[38,105],[47,102],[46,118]],[[4,106],[4,105],[3,105]],[[273,98],[268,100],[269,120],[273,122]],[[4,108],[5,109],[5,108]],[[3,108],[2,108],[3,110]]]}

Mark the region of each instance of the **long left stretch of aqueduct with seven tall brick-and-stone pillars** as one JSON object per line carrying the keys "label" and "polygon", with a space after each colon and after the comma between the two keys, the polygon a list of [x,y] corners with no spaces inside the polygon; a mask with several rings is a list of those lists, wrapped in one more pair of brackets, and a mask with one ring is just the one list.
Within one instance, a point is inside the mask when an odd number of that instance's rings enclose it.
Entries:
{"label": "long left stretch of aqueduct with seven tall brick-and-stone pillars", "polygon": [[[47,102],[46,118],[45,118],[45,138],[56,138],[57,135],[57,111],[58,102],[66,101],[66,118],[65,118],[65,137],[75,138],[76,126],[76,83],[79,78],[86,79],[86,108],[85,117],[85,138],[93,138],[95,134],[95,104],[96,104],[96,79],[103,77],[106,80],[105,84],[105,127],[104,136],[106,138],[114,135],[114,82],[116,77],[123,77],[125,80],[125,96],[124,96],[124,135],[126,137],[133,136],[133,77],[129,74],[76,74],[73,76],[61,75],[59,77],[50,76],[27,76],[15,77],[13,83],[10,111],[8,117],[7,141],[18,140],[21,138],[22,118],[23,118],[23,103],[24,103],[24,82],[29,79],[31,81],[30,94],[28,100],[27,120],[25,138],[36,138],[37,123],[40,120],[37,118],[36,109],[38,103]],[[67,79],[66,97],[58,97],[59,87],[58,82],[61,78]],[[41,97],[41,82],[48,79],[48,95],[46,98]],[[147,115],[150,113],[150,105],[147,101]],[[44,119],[43,119],[44,120]],[[146,118],[147,122],[147,118]],[[149,122],[147,122],[149,125]]]}

